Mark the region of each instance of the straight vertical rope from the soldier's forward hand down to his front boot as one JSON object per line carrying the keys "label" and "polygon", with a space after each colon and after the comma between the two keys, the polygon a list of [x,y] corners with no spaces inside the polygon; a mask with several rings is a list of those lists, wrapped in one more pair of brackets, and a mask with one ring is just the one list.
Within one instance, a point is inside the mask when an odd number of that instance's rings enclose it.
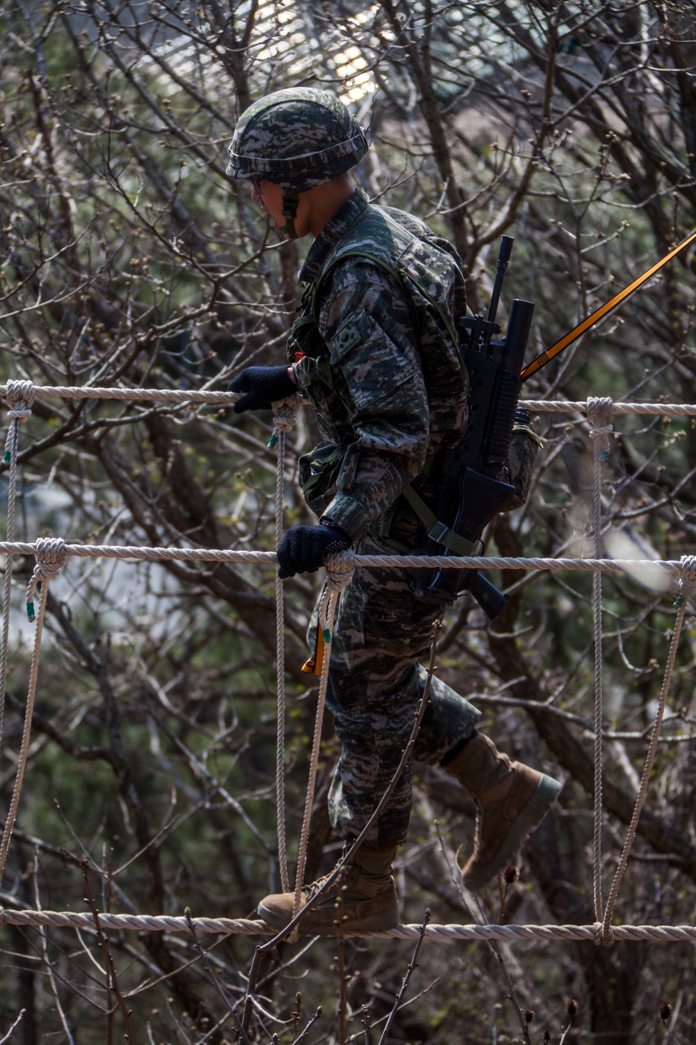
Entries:
{"label": "straight vertical rope from the soldier's forward hand down to his front boot", "polygon": [[[299,399],[296,395],[273,404],[273,434],[268,440],[278,445],[275,471],[275,548],[283,539],[283,490],[285,485],[285,435],[297,420]],[[275,817],[278,825],[278,862],[283,892],[290,890],[288,854],[285,836],[285,605],[283,581],[275,573],[275,672],[278,688],[278,724],[275,730]]]}

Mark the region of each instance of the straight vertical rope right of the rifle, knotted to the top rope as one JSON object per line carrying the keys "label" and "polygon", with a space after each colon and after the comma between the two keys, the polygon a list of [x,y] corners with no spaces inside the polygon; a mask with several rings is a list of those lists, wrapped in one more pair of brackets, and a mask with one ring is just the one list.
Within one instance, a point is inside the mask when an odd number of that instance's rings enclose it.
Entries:
{"label": "straight vertical rope right of the rifle, knotted to the top rope", "polygon": [[[602,558],[602,464],[609,456],[609,433],[614,403],[611,399],[587,399],[587,420],[592,424],[590,438],[594,445],[593,536],[595,558]],[[602,920],[602,575],[593,576],[593,607],[595,616],[595,830],[593,844],[593,897],[595,919]]]}

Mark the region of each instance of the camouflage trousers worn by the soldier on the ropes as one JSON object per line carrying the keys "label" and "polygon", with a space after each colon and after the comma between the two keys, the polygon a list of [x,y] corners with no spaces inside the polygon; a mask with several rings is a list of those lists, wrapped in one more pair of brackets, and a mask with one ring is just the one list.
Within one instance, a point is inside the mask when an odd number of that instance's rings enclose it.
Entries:
{"label": "camouflage trousers worn by the soldier on the ropes", "polygon": [[[404,552],[401,542],[371,534],[363,555]],[[329,794],[334,829],[356,837],[384,794],[408,743],[427,678],[433,623],[443,607],[416,600],[400,570],[360,568],[341,595],[331,643],[327,704],[335,718],[341,754]],[[413,757],[436,764],[459,741],[472,737],[480,716],[458,693],[433,678]],[[406,840],[411,812],[412,765],[366,842],[389,849]]]}

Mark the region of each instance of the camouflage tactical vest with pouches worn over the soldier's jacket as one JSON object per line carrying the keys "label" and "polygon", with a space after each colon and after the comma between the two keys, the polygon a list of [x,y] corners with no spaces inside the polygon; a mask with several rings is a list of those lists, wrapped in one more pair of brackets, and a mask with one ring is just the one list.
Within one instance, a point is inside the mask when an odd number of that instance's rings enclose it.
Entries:
{"label": "camouflage tactical vest with pouches worn over the soldier's jacket", "polygon": [[[329,388],[333,388],[332,367],[329,347],[318,329],[319,309],[323,294],[330,288],[333,270],[351,257],[369,260],[401,284],[417,336],[435,446],[418,481],[402,491],[403,497],[433,541],[458,555],[478,554],[479,542],[454,533],[438,520],[432,508],[440,450],[460,442],[466,425],[469,375],[459,352],[460,344],[466,342],[466,332],[459,335],[458,319],[464,311],[470,317],[472,312],[465,305],[459,256],[447,240],[403,211],[367,206],[359,214],[327,254],[316,279],[306,287],[301,316],[288,341],[288,359],[294,362],[297,349],[316,358],[316,377]],[[320,415],[320,393],[312,388],[314,385],[312,381],[307,392]],[[515,495],[505,510],[526,501],[539,445],[541,440],[528,422],[515,424],[510,446],[511,468],[508,468]],[[331,503],[345,448],[342,439],[323,442],[299,459],[299,484],[318,515]],[[379,520],[377,532],[388,536],[389,525],[388,517]]]}

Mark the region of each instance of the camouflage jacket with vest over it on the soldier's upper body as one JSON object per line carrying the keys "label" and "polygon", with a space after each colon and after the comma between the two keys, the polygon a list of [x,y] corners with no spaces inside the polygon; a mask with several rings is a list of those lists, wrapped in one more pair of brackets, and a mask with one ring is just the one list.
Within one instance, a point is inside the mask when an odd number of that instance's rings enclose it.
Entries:
{"label": "camouflage jacket with vest over it on the soldier's upper body", "polygon": [[338,471],[322,500],[308,501],[356,540],[428,455],[463,433],[461,262],[423,222],[356,190],[312,243],[299,279],[288,359]]}

